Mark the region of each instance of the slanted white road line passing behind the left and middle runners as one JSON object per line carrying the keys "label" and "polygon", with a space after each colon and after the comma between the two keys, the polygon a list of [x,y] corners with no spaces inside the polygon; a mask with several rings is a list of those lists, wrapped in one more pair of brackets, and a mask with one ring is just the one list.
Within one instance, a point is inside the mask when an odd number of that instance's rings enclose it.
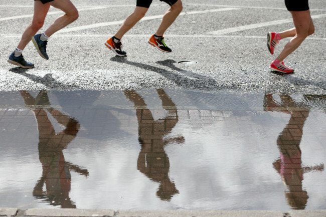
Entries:
{"label": "slanted white road line passing behind the left and middle runners", "polygon": [[[239,10],[239,9],[237,9],[237,8],[224,8],[224,9],[212,9],[212,10],[205,10],[205,11],[182,12],[182,13],[180,13],[179,16],[206,14],[206,13],[214,13],[214,12],[224,12],[224,11],[232,11],[232,10]],[[160,18],[163,18],[163,16],[164,15],[148,16],[148,17],[142,18],[139,22],[160,19]],[[97,24],[73,27],[73,28],[60,30],[58,33],[70,33],[70,32],[75,32],[75,31],[80,31],[80,30],[88,30],[88,29],[98,28],[98,27],[106,27],[106,26],[118,25],[118,24],[122,24],[123,22],[124,22],[124,20],[120,20],[120,21],[104,22],[104,23],[97,23]]]}

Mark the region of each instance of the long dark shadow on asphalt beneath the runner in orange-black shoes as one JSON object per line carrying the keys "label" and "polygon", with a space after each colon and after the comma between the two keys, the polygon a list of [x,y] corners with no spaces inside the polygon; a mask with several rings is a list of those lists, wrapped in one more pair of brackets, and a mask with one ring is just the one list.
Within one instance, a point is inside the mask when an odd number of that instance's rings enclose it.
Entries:
{"label": "long dark shadow on asphalt beneath the runner in orange-black shoes", "polygon": [[234,88],[234,85],[219,85],[214,79],[203,76],[197,73],[193,73],[187,70],[180,69],[174,65],[176,61],[174,60],[165,60],[165,61],[157,61],[156,63],[162,66],[169,67],[179,73],[168,71],[166,69],[158,68],[155,66],[143,64],[143,63],[136,63],[132,61],[128,61],[127,57],[119,57],[115,56],[110,59],[110,61],[118,62],[118,63],[125,63],[131,66],[138,67],[140,69],[152,71],[158,73],[168,80],[174,82],[177,86],[199,89],[199,90],[207,90],[207,89],[225,89],[225,88]]}

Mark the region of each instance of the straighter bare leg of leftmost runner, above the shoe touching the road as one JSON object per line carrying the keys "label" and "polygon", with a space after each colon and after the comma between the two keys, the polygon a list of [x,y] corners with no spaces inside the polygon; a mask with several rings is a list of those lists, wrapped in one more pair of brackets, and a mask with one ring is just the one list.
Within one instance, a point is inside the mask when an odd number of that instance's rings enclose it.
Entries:
{"label": "straighter bare leg of leftmost runner, above the shoe touching the road", "polygon": [[31,41],[31,38],[42,28],[49,8],[49,4],[43,5],[41,1],[34,1],[34,15],[32,23],[24,31],[22,39],[17,48],[24,50],[26,45]]}

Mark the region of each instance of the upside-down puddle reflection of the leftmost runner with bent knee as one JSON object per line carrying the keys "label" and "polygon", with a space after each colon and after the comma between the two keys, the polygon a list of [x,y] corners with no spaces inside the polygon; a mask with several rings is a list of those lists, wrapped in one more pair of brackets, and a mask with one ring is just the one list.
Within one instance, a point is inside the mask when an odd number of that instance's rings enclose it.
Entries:
{"label": "upside-down puddle reflection of the leftmost runner with bent knee", "polygon": [[[50,105],[46,91],[41,91],[36,99],[27,91],[20,91],[26,105]],[[81,169],[65,160],[63,149],[76,137],[80,125],[79,122],[54,108],[47,111],[65,129],[55,132],[45,109],[31,109],[38,123],[39,131],[39,157],[42,163],[43,174],[36,183],[33,195],[37,198],[45,198],[51,205],[60,205],[62,208],[76,208],[69,197],[71,175],[70,170],[87,176],[87,169]],[[43,185],[46,185],[46,192]]]}

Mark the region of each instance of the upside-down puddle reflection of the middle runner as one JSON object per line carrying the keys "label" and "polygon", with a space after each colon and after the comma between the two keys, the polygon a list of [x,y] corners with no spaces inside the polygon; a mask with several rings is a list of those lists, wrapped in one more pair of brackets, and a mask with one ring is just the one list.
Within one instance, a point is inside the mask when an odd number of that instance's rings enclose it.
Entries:
{"label": "upside-down puddle reflection of the middle runner", "polygon": [[[183,143],[183,136],[164,139],[178,122],[176,105],[164,90],[157,90],[162,106],[170,106],[166,109],[167,115],[159,120],[154,120],[148,109],[136,109],[138,120],[138,136],[141,150],[137,160],[137,169],[149,179],[159,182],[156,195],[162,200],[170,200],[174,194],[179,193],[174,182],[169,178],[170,162],[164,150],[164,146],[170,142]],[[124,91],[124,95],[133,102],[134,106],[146,106],[144,100],[135,91]]]}

